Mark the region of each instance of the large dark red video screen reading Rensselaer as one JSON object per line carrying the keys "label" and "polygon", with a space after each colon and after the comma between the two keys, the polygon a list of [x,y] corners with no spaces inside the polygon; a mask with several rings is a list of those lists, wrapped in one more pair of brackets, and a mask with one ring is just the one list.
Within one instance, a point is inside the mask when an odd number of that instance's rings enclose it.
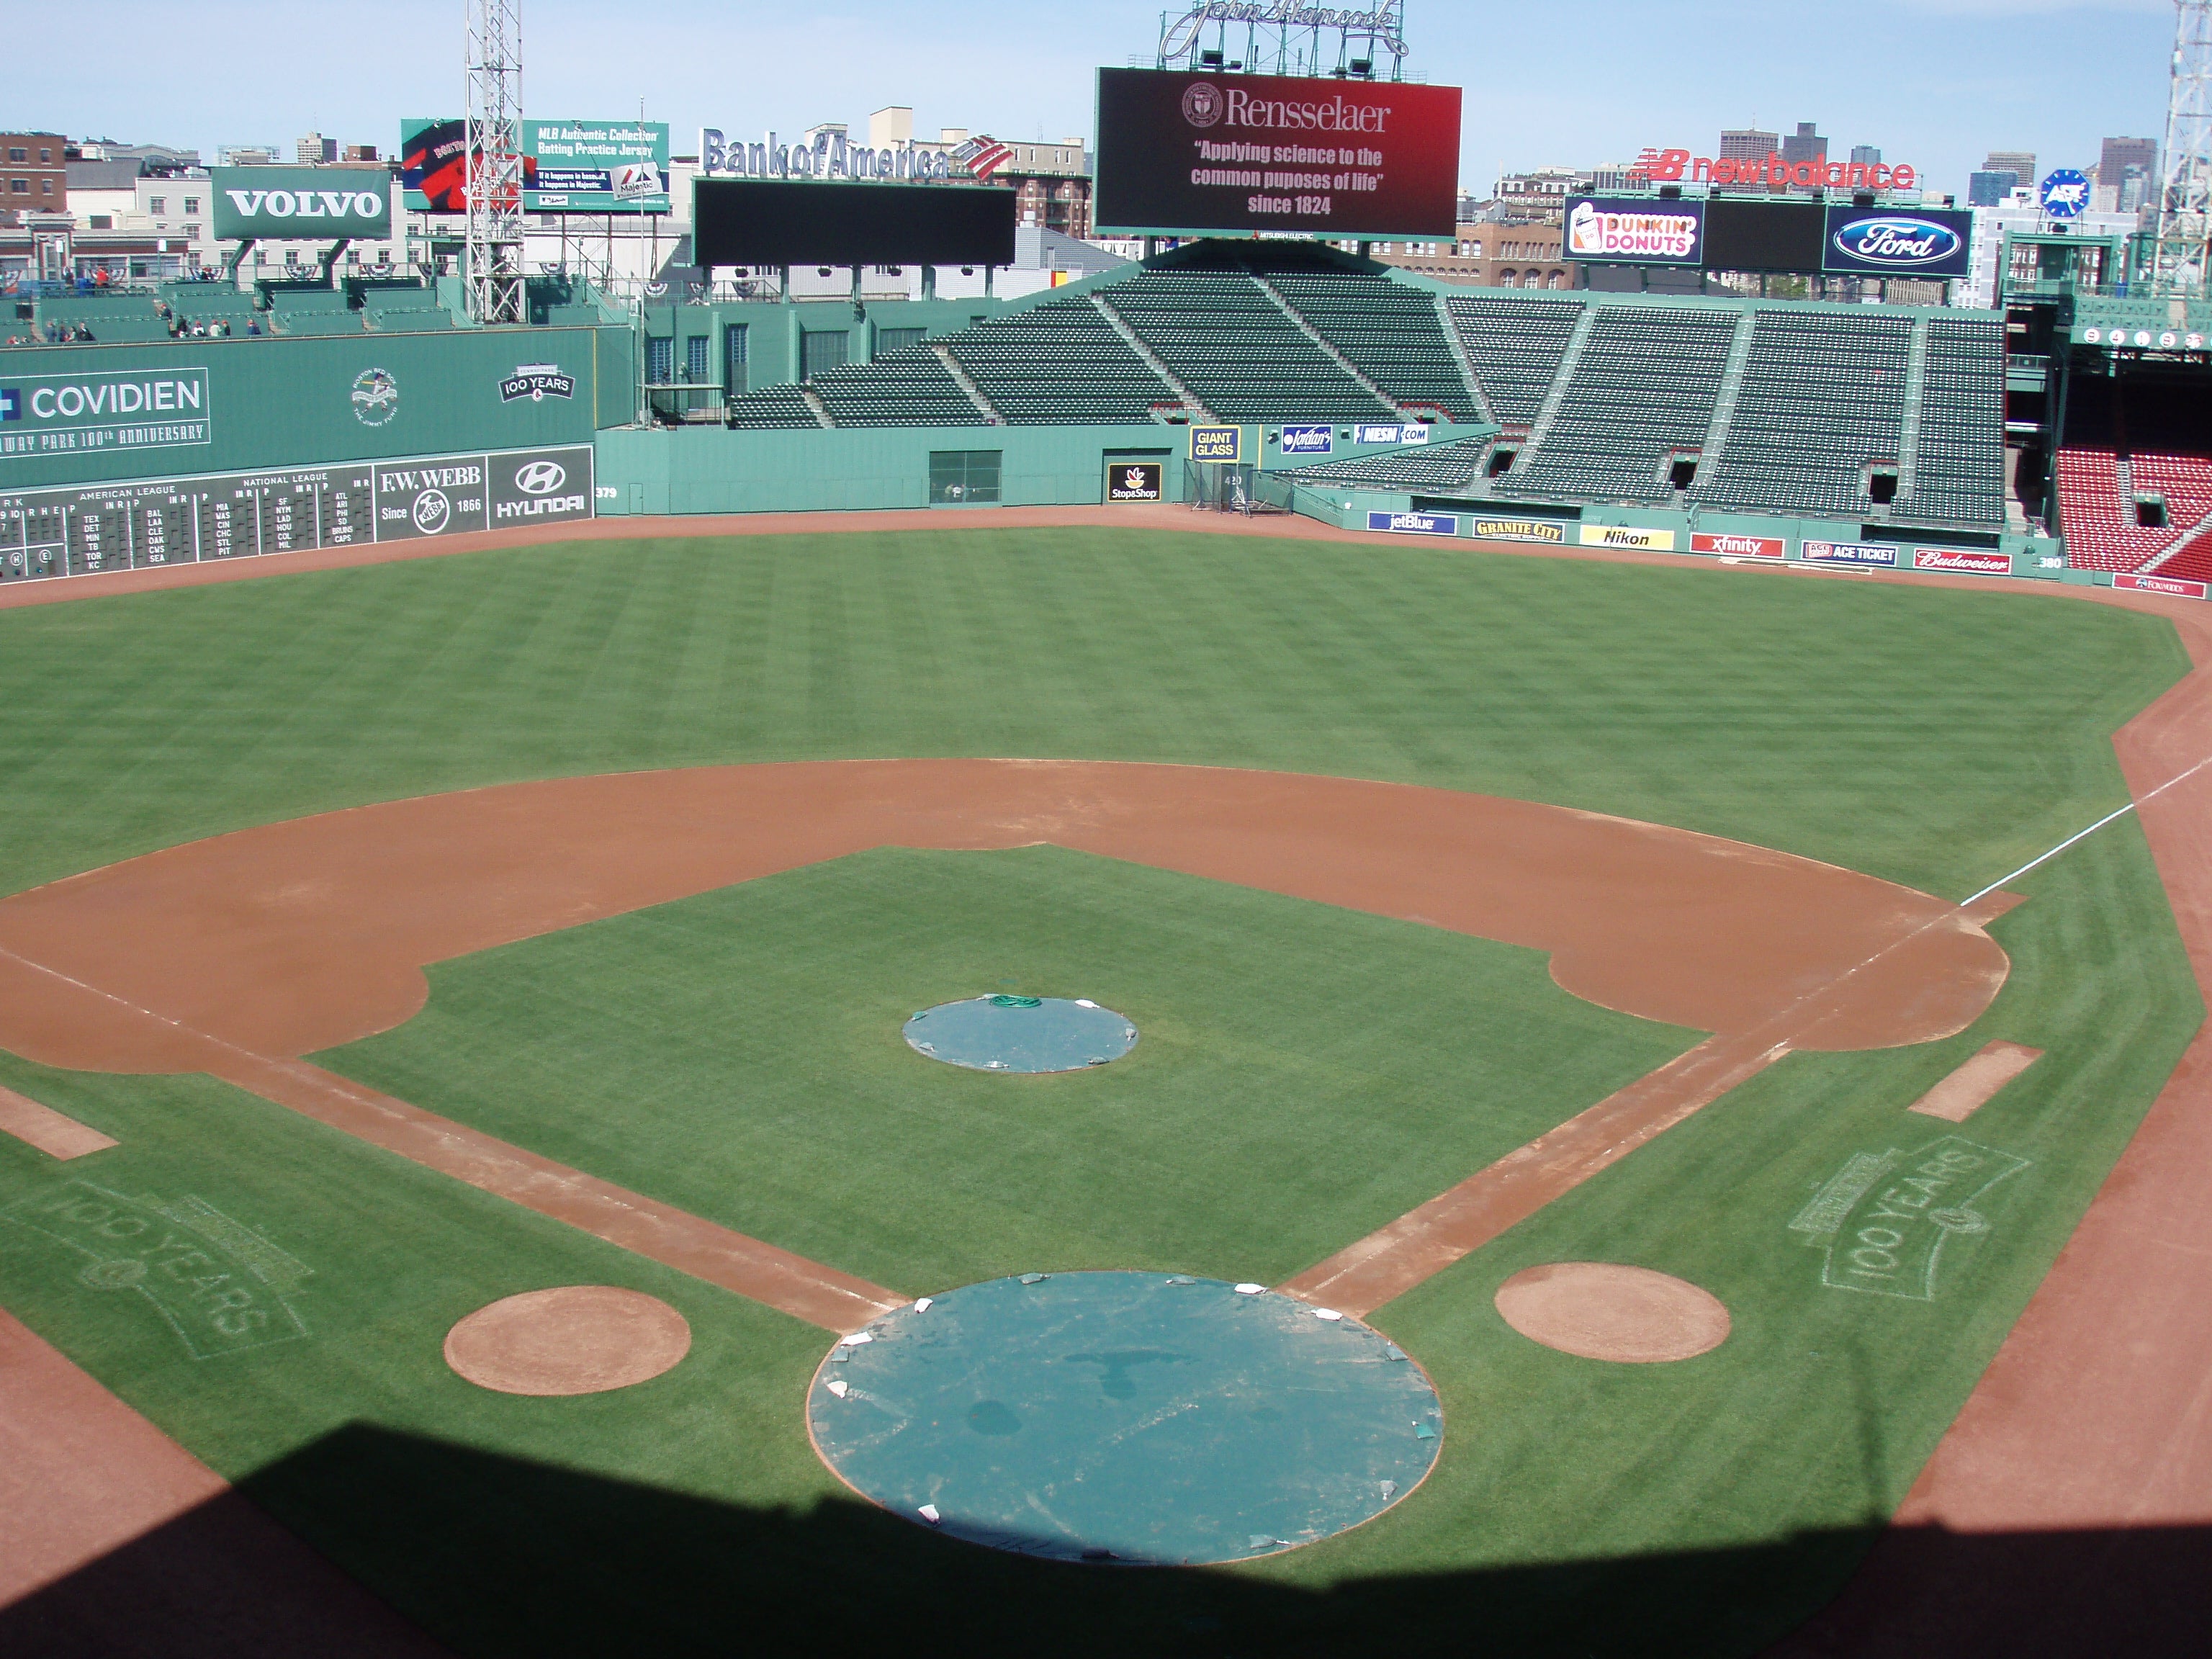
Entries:
{"label": "large dark red video screen reading Rensselaer", "polygon": [[1099,230],[1451,241],[1460,88],[1099,71]]}

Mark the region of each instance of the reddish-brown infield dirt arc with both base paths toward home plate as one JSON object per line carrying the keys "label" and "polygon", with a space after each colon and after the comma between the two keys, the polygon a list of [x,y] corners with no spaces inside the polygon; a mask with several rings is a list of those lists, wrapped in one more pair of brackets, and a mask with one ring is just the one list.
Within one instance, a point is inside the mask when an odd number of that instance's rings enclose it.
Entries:
{"label": "reddish-brown infield dirt arc with both base paths toward home plate", "polygon": [[[898,1292],[542,1159],[296,1055],[411,1018],[425,964],[878,845],[1064,847],[1551,953],[1568,991],[1714,1042],[1294,1281],[1365,1312],[1783,1048],[1962,1031],[2004,951],[1953,905],[1593,812],[1349,779],[832,761],[520,783],[246,830],[0,900],[0,1046],[199,1071],[626,1250],[856,1329]],[[1473,1241],[1473,1243],[1471,1243]],[[1312,1283],[1307,1283],[1312,1281]]]}

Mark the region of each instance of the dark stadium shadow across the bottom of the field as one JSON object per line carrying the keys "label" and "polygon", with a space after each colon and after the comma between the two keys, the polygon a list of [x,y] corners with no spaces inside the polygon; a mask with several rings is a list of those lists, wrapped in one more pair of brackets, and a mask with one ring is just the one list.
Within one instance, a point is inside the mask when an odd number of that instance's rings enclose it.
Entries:
{"label": "dark stadium shadow across the bottom of the field", "polygon": [[[248,1502],[254,1500],[254,1502]],[[465,1655],[1730,1655],[1832,1601],[1878,1528],[1305,1590],[1060,1566],[858,1502],[757,1511],[372,1427],[0,1610],[0,1652],[420,1655],[254,1504]],[[241,1542],[243,1540],[243,1542]],[[294,1555],[299,1555],[294,1551]],[[321,1564],[314,1564],[321,1568]],[[1790,1635],[1829,1655],[2212,1652],[2212,1528],[1880,1537]]]}

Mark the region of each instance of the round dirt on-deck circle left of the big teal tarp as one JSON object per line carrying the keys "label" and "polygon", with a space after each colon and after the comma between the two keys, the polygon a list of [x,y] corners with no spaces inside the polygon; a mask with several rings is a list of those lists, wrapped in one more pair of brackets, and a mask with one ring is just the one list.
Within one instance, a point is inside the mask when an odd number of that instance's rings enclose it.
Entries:
{"label": "round dirt on-deck circle left of the big teal tarp", "polygon": [[445,1334],[445,1363],[500,1394],[606,1394],[690,1352],[690,1325],[659,1296],[613,1285],[529,1290]]}

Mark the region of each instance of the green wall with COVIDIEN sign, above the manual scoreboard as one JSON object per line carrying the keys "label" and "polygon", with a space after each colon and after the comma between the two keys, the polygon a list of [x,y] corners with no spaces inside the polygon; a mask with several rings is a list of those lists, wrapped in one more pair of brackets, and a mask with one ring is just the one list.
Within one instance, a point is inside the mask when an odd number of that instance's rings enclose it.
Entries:
{"label": "green wall with COVIDIEN sign, above the manual scoreboard", "polygon": [[626,327],[0,347],[0,495],[591,442],[633,416]]}

